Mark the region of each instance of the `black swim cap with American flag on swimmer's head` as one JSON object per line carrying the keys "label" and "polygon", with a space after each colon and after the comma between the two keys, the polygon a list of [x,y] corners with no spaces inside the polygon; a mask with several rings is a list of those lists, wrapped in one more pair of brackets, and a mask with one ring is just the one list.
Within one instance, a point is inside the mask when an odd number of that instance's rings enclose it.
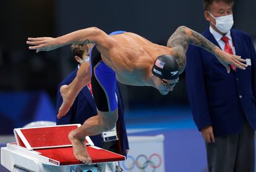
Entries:
{"label": "black swim cap with American flag on swimmer's head", "polygon": [[164,80],[175,80],[179,77],[179,65],[172,55],[160,55],[152,68],[153,75]]}

